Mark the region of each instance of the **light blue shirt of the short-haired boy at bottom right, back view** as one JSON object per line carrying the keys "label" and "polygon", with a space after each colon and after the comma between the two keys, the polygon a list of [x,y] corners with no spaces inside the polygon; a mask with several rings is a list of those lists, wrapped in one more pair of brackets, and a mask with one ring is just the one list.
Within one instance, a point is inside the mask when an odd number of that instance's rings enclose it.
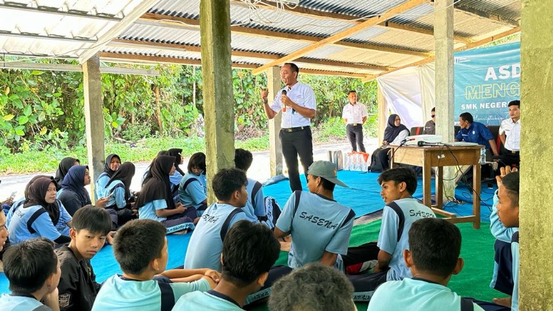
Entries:
{"label": "light blue shirt of the short-haired boy at bottom right, back view", "polygon": [[[483,311],[472,303],[474,311]],[[409,310],[409,311],[460,311],[461,296],[444,285],[421,279],[403,279],[382,283],[367,311]]]}

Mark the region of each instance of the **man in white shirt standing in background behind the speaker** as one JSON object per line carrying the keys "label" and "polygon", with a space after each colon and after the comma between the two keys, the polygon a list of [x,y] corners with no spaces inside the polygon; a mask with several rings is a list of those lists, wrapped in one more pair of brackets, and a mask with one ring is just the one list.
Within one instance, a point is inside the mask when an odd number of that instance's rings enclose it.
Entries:
{"label": "man in white shirt standing in background behind the speaker", "polygon": [[346,135],[350,140],[351,149],[357,151],[365,151],[363,144],[363,124],[367,120],[367,109],[364,104],[357,102],[357,92],[350,91],[348,93],[349,104],[344,106],[344,111],[341,114],[342,119],[346,122]]}

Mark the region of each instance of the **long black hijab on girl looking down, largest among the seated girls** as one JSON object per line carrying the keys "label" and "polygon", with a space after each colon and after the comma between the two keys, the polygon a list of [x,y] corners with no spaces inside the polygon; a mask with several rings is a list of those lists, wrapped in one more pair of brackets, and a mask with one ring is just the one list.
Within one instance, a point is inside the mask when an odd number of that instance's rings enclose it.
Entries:
{"label": "long black hijab on girl looking down, largest among the seated girls", "polygon": [[175,163],[175,157],[157,156],[150,167],[151,178],[142,186],[136,207],[140,208],[154,200],[165,200],[167,209],[174,209],[175,202],[171,193],[169,173]]}

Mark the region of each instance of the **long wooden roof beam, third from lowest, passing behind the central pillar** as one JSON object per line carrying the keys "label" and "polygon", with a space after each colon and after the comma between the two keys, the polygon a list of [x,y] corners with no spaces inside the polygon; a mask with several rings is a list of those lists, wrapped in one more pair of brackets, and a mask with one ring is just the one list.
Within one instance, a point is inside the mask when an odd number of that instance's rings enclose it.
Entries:
{"label": "long wooden roof beam, third from lowest, passing behind the central pillar", "polygon": [[[182,27],[182,28],[189,28],[190,26],[199,27],[200,25],[197,19],[187,19],[184,17],[172,17],[168,15],[160,15],[160,14],[153,14],[153,13],[146,13],[142,15],[142,17],[140,17],[140,21],[150,21],[150,22],[157,21],[158,23],[167,23],[171,25],[171,27]],[[230,30],[233,33],[239,34],[239,35],[304,41],[308,43],[317,43],[324,39],[323,37],[315,37],[315,36],[308,36],[308,35],[294,35],[291,33],[278,32],[274,30],[247,28],[244,26],[231,26]],[[332,42],[332,44],[334,44],[335,46],[343,46],[343,47],[345,46],[347,48],[358,48],[361,50],[377,50],[379,52],[397,53],[397,54],[413,55],[413,56],[419,56],[419,57],[429,57],[431,55],[430,53],[427,53],[427,52],[420,52],[415,50],[402,50],[401,48],[389,48],[386,46],[378,46],[376,44],[359,44],[355,42],[348,42],[348,41],[342,41],[342,40]]]}

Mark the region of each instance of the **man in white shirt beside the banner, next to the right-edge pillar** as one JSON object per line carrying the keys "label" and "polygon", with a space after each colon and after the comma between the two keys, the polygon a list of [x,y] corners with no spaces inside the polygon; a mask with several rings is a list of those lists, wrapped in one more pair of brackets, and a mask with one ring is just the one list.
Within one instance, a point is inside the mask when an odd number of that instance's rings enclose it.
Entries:
{"label": "man in white shirt beside the banner, next to the right-edge pillar", "polygon": [[499,138],[505,146],[505,153],[500,155],[500,165],[519,167],[521,162],[521,101],[512,100],[509,107],[509,119],[501,122]]}

